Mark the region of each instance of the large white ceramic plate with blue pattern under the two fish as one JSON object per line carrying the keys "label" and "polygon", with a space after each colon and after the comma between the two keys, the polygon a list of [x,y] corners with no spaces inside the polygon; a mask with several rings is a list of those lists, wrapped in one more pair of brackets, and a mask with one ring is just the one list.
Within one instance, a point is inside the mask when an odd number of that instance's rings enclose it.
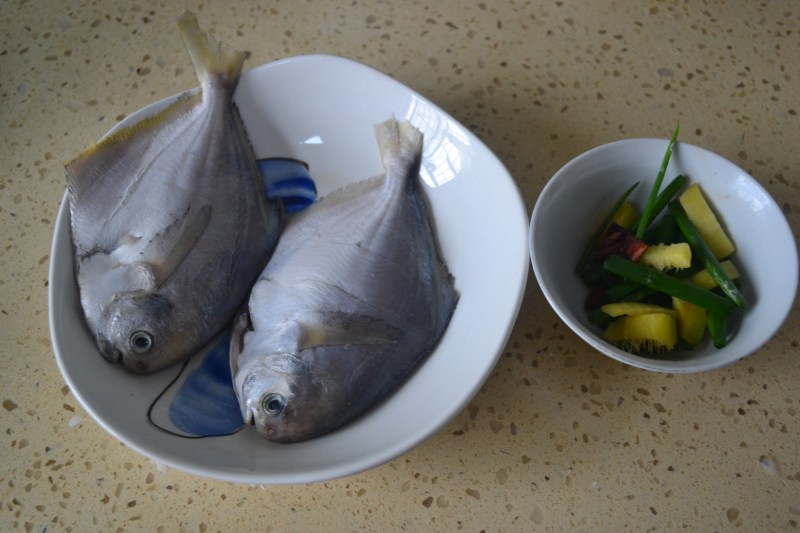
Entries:
{"label": "large white ceramic plate with blue pattern under the two fish", "polygon": [[[153,114],[176,96],[127,117]],[[256,67],[235,100],[259,158],[309,164],[320,195],[382,172],[373,126],[394,115],[425,134],[422,178],[461,299],[436,350],[366,415],[327,436],[279,445],[252,428],[187,440],[154,429],[146,410],[177,369],[127,374],[105,362],[84,324],[73,277],[66,196],[50,265],[50,329],[59,368],[83,407],[116,438],[158,463],[252,484],[353,474],[407,452],[458,414],[502,352],[528,274],[527,213],[491,151],[434,104],[365,65],[301,56]]]}

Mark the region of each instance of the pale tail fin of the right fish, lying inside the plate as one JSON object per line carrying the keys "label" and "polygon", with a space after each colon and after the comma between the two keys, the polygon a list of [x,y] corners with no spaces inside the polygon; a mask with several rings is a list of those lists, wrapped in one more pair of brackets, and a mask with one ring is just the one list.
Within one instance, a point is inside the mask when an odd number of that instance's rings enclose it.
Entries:
{"label": "pale tail fin of the right fish, lying inside the plate", "polygon": [[406,186],[415,187],[422,161],[422,132],[411,122],[399,122],[392,117],[375,126],[375,138],[387,183],[399,179],[406,180]]}

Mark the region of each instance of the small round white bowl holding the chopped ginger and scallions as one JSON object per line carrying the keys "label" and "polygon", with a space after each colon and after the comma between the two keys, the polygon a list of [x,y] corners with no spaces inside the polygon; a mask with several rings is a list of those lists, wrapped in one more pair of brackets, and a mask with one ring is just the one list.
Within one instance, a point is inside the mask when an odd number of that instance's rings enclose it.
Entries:
{"label": "small round white bowl holding the chopped ginger and scallions", "polygon": [[599,146],[562,167],[542,190],[533,209],[529,245],[539,286],[559,317],[597,351],[623,363],[662,372],[701,372],[729,365],[756,351],[780,328],[798,283],[797,248],[786,218],[767,191],[747,172],[703,148],[678,142],[664,184],[678,174],[697,182],[737,247],[733,260],[742,274],[748,306],[729,327],[727,346],[706,340],[670,358],[620,350],[589,324],[587,289],[575,265],[592,231],[633,183],[630,200],[641,209],[655,181],[667,140],[629,139]]}

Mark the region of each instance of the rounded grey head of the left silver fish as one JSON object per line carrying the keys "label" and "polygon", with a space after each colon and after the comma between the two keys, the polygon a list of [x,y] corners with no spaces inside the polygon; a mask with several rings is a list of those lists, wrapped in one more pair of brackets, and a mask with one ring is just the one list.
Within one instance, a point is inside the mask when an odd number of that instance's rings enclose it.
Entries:
{"label": "rounded grey head of the left silver fish", "polygon": [[97,345],[111,363],[134,374],[152,374],[183,359],[189,346],[160,294],[131,291],[114,296],[97,327]]}

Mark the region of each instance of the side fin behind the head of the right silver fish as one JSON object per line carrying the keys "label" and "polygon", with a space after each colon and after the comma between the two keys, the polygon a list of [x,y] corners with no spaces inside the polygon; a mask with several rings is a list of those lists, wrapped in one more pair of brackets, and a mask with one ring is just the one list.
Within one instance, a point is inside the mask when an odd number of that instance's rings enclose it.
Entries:
{"label": "side fin behind the head of the right silver fish", "polygon": [[389,344],[400,340],[405,333],[380,318],[341,311],[322,313],[316,320],[305,320],[298,325],[298,350],[342,344]]}

